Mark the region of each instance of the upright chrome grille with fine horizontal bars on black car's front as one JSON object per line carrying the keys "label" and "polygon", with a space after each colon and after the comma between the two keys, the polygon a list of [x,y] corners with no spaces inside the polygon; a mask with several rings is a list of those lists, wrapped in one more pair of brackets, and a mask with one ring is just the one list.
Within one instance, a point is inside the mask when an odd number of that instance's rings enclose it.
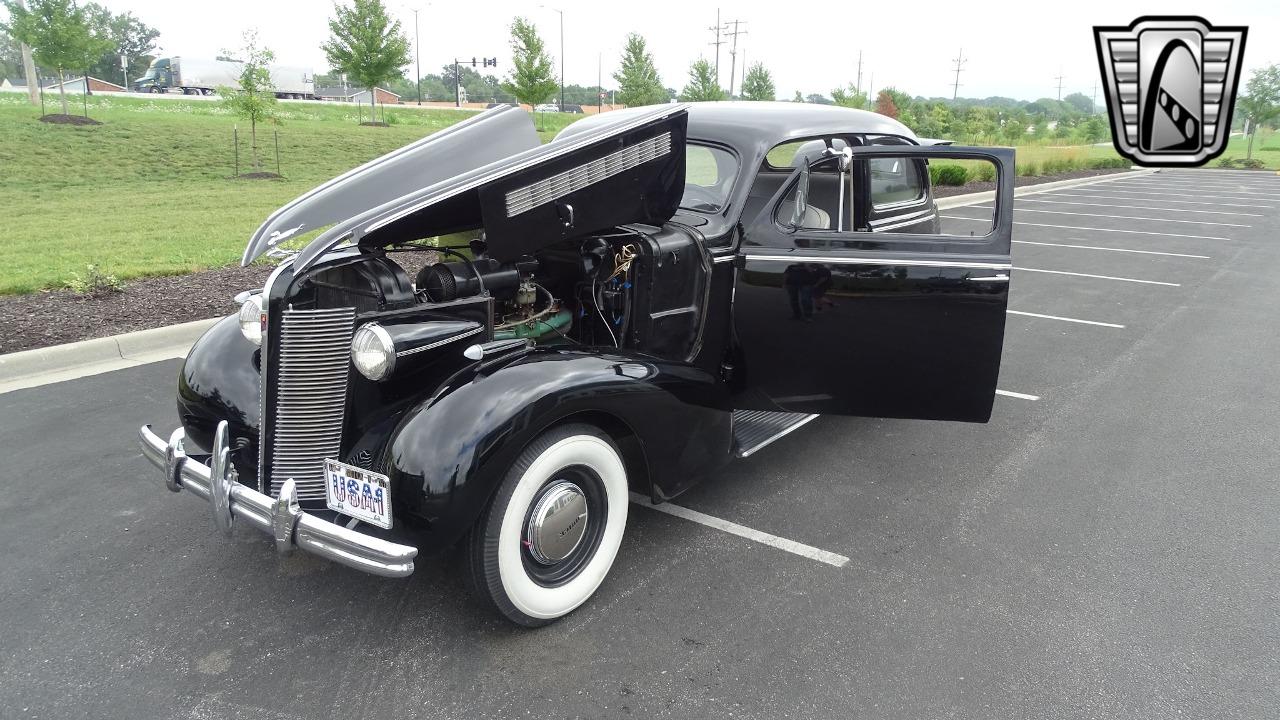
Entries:
{"label": "upright chrome grille with fine horizontal bars on black car's front", "polygon": [[293,478],[298,500],[324,500],[324,460],[339,457],[356,309],[285,310],[280,318],[275,414],[271,418],[271,495]]}

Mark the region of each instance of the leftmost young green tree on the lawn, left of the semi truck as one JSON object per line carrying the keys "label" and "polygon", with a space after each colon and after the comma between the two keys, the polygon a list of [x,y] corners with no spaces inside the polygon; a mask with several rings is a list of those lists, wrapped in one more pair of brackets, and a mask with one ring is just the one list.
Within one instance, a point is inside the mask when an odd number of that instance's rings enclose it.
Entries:
{"label": "leftmost young green tree on the lawn, left of the semi truck", "polygon": [[63,87],[67,72],[87,69],[106,54],[110,41],[90,27],[84,8],[76,0],[31,0],[31,8],[24,8],[19,0],[3,3],[9,10],[9,22],[0,28],[29,45],[37,64],[58,70],[63,114],[69,114],[67,88]]}

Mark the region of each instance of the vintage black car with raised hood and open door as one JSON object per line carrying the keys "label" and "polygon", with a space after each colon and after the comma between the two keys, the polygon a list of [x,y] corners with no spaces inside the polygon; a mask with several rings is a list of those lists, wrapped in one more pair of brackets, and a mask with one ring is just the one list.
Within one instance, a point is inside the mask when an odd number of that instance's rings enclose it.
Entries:
{"label": "vintage black car with raised hood and open door", "polygon": [[[943,232],[932,159],[995,167],[986,232]],[[818,414],[987,421],[1012,160],[842,108],[636,108],[540,145],[499,106],[274,213],[244,263],[326,229],[192,347],[182,428],[141,446],[224,532],[389,577],[462,541],[479,598],[548,623],[599,587],[628,492]]]}

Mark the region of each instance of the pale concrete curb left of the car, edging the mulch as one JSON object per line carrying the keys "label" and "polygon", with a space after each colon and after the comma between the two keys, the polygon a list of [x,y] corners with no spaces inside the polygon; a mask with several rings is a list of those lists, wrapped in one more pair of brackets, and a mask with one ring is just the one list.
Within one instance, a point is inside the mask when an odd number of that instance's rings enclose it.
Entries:
{"label": "pale concrete curb left of the car, edging the mulch", "polygon": [[183,357],[221,318],[0,355],[0,393]]}

